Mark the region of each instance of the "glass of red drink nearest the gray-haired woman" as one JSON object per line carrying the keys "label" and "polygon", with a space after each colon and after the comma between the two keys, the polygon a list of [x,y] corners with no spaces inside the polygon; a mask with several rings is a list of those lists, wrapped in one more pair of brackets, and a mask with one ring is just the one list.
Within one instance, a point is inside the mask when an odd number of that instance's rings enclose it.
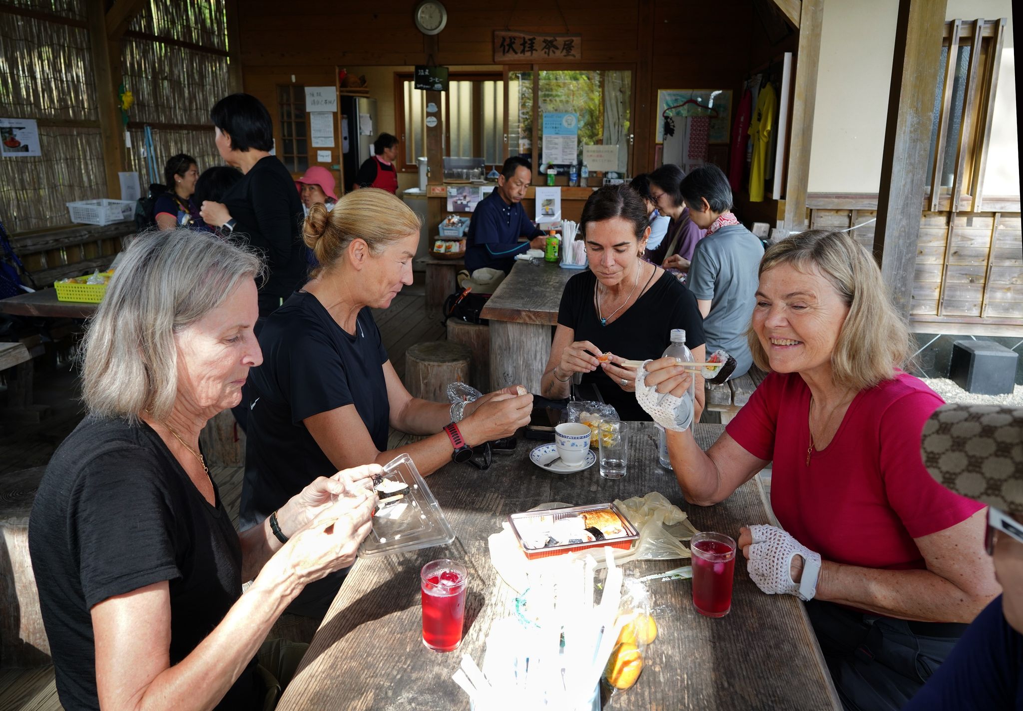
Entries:
{"label": "glass of red drink nearest the gray-haired woman", "polygon": [[454,561],[431,561],[419,571],[422,643],[434,652],[453,652],[461,645],[466,579],[465,567]]}

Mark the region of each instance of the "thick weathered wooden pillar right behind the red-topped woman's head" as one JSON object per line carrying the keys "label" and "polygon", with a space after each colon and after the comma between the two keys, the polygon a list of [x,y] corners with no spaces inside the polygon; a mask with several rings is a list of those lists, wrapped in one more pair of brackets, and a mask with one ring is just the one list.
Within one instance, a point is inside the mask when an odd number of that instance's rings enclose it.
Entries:
{"label": "thick weathered wooden pillar right behind the red-topped woman's head", "polygon": [[[899,0],[874,256],[908,315],[946,0]],[[952,61],[952,58],[949,58]]]}

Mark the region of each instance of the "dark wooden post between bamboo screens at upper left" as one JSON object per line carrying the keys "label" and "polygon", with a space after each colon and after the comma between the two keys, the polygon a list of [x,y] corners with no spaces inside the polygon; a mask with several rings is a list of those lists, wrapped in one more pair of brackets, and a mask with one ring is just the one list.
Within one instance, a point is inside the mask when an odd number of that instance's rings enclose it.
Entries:
{"label": "dark wooden post between bamboo screens at upper left", "polygon": [[125,170],[124,123],[121,119],[118,87],[121,85],[121,45],[106,38],[104,0],[87,0],[89,53],[96,83],[99,133],[103,141],[106,197],[121,196],[118,173]]}

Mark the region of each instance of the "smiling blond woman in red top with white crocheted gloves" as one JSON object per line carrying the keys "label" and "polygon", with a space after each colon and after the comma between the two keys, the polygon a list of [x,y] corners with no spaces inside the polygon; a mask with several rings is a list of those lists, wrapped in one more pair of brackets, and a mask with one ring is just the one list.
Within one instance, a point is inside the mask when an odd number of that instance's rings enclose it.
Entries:
{"label": "smiling blond woman in red top with white crocheted gloves", "polygon": [[[767,250],[749,344],[772,372],[714,446],[668,433],[682,493],[717,503],[773,462],[782,528],[742,529],[750,577],[808,601],[847,709],[900,709],[998,591],[982,504],[920,458],[941,398],[902,370],[905,323],[874,259],[841,232]],[[690,383],[668,358],[647,371],[647,386],[676,397]]]}

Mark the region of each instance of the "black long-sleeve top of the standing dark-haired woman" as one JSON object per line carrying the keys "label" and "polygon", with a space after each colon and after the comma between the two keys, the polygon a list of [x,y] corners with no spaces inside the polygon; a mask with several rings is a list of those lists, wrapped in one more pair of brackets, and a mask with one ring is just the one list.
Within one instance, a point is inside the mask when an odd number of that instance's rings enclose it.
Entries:
{"label": "black long-sleeve top of the standing dark-haired woman", "polygon": [[260,250],[267,276],[259,283],[260,315],[266,316],[306,282],[306,246],[302,241],[305,212],[295,180],[274,155],[260,159],[224,193],[224,205],[236,221],[233,235]]}

